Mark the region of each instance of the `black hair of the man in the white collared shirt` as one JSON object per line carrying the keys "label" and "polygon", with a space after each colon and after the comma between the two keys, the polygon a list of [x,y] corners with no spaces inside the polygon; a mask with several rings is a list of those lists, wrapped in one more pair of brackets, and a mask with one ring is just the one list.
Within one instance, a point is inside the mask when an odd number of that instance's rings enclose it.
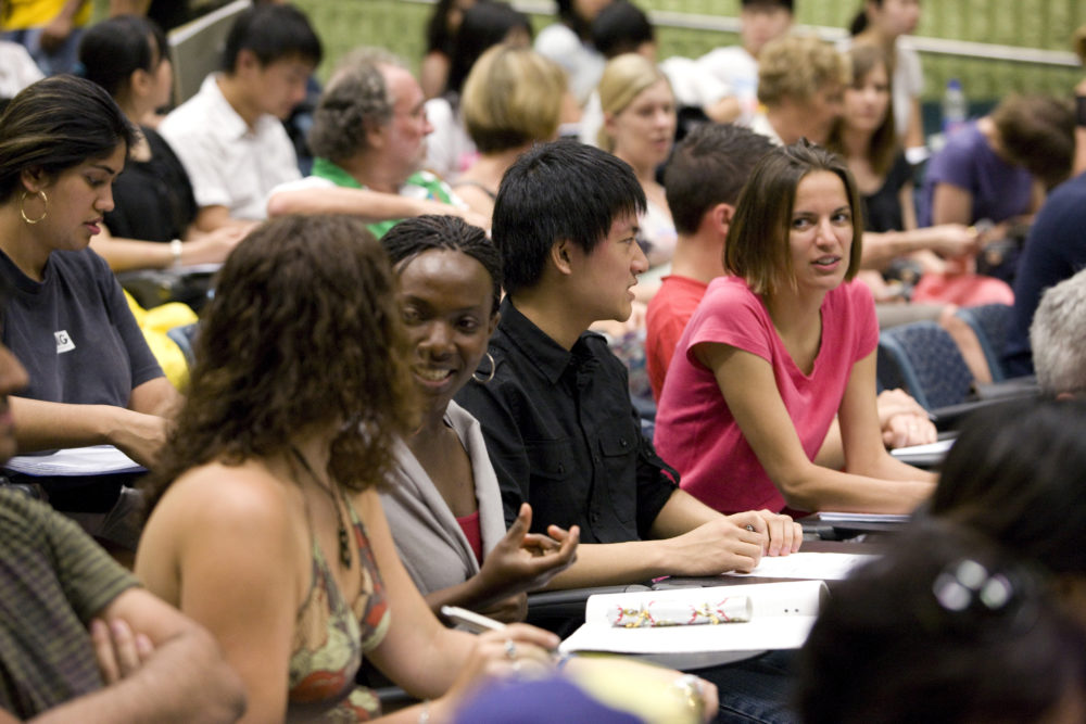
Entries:
{"label": "black hair of the man in the white collared shirt", "polygon": [[323,56],[320,38],[308,18],[293,5],[253,5],[238,15],[226,36],[222,69],[238,69],[238,54],[252,52],[263,66],[285,58],[300,58],[318,65]]}

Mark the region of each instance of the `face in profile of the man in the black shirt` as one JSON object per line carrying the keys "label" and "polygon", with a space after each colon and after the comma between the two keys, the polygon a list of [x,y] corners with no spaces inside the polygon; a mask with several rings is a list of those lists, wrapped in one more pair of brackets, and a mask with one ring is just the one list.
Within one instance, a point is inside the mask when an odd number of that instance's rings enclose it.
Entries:
{"label": "face in profile of the man in the black shirt", "polygon": [[[633,285],[648,268],[648,259],[637,244],[637,217],[619,214],[610,231],[585,254],[569,244],[573,268],[574,304],[583,306],[593,320],[626,321],[633,310]],[[591,315],[588,313],[591,312]]]}

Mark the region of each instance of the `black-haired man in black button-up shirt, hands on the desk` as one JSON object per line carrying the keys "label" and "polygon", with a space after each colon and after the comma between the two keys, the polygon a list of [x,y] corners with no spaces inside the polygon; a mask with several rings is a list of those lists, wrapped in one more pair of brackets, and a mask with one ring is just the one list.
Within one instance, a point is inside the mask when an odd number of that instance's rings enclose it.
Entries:
{"label": "black-haired man in black button-up shirt, hands on the desk", "polygon": [[552,588],[748,571],[801,538],[787,516],[724,517],[679,490],[641,435],[626,368],[586,331],[630,316],[644,209],[626,163],[568,141],[523,154],[494,207],[507,296],[478,383],[456,399],[482,424],[506,519],[527,500],[533,521],[580,526]]}

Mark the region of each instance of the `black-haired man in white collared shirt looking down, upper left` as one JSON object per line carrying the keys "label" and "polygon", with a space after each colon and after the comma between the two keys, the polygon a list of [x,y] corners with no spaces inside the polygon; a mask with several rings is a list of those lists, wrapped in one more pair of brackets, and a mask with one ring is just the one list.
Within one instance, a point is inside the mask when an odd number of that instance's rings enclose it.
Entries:
{"label": "black-haired man in white collared shirt looking down, upper left", "polygon": [[255,5],[227,36],[223,73],[207,76],[162,122],[159,132],[192,182],[200,229],[265,218],[272,189],[300,178],[281,120],[305,98],[320,56],[320,40],[301,11]]}

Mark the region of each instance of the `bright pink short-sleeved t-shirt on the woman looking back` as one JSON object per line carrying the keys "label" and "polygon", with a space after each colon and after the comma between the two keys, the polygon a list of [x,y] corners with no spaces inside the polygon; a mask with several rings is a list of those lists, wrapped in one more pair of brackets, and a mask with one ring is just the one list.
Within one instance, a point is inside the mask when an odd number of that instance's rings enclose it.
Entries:
{"label": "bright pink short-sleeved t-shirt on the woman looking back", "polygon": [[776,389],[804,452],[822,446],[845,395],[853,365],[879,344],[871,292],[846,282],[822,301],[822,343],[804,374],[784,347],[761,299],[735,277],[712,280],[682,339],[664,383],[656,415],[656,449],[682,475],[682,488],[724,513],[784,509],[728,409],[712,372],[691,348],[719,342],[758,355],[773,367]]}

